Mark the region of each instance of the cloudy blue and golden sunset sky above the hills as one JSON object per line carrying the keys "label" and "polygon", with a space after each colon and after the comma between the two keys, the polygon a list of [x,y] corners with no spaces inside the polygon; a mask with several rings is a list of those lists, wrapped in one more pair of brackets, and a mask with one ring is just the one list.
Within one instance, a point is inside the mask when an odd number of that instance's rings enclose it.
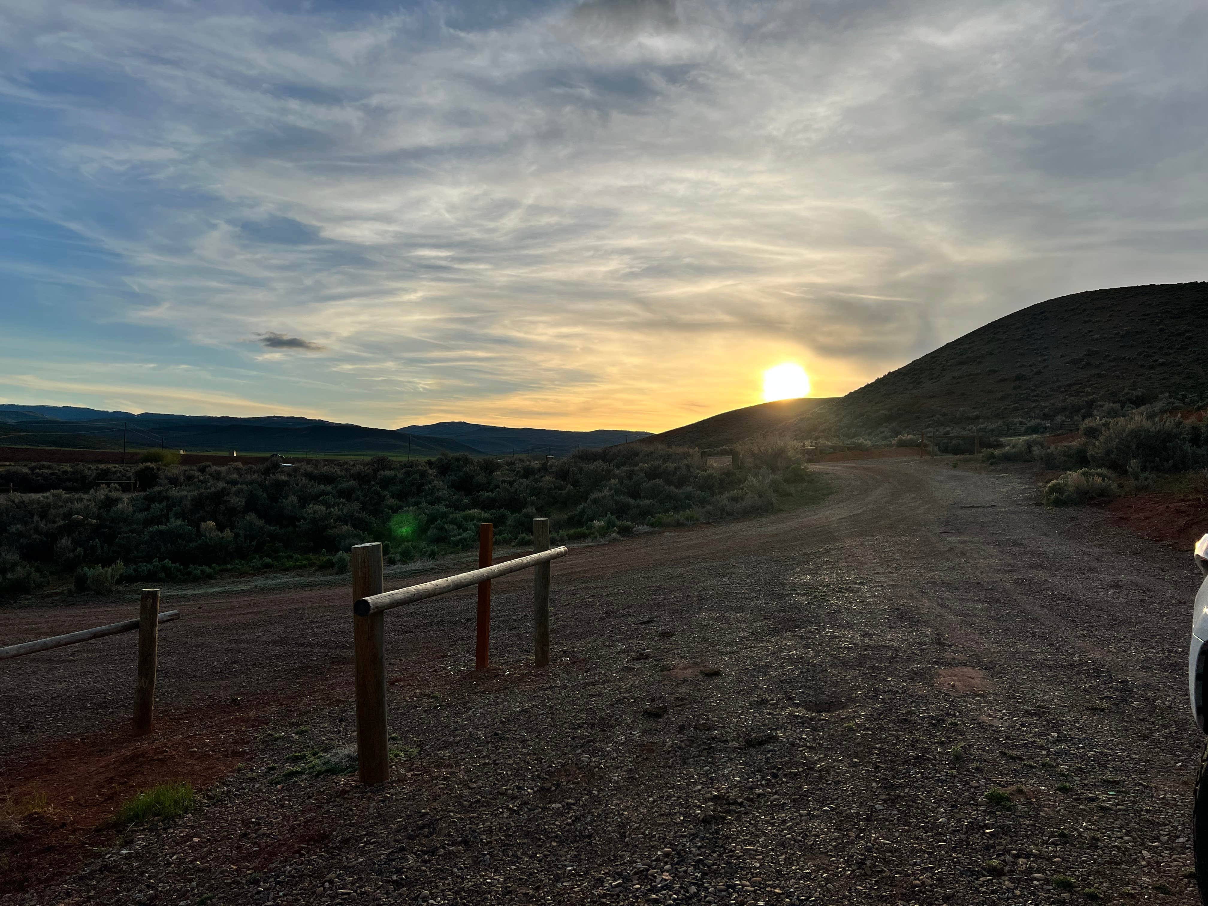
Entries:
{"label": "cloudy blue and golden sunset sky above the hills", "polygon": [[0,0],[0,402],[664,430],[1208,278],[1202,0]]}

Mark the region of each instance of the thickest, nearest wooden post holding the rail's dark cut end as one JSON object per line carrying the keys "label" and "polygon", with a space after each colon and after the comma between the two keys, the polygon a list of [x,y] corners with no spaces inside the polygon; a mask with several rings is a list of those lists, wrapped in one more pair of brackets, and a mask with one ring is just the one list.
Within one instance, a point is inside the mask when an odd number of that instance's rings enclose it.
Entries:
{"label": "thickest, nearest wooden post holding the rail's dark cut end", "polygon": [[[353,547],[353,600],[381,594],[382,545]],[[356,765],[361,783],[385,783],[390,755],[385,730],[385,615],[353,616],[356,661]]]}

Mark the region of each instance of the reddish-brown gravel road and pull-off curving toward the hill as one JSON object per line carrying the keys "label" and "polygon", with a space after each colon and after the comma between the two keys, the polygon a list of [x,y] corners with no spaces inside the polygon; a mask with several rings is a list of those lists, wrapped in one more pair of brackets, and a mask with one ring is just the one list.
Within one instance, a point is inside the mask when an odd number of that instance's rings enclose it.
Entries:
{"label": "reddish-brown gravel road and pull-off curving toward the hill", "polygon": [[[1027,476],[814,467],[814,509],[557,562],[547,672],[527,575],[487,674],[472,593],[391,611],[378,790],[286,776],[354,739],[347,590],[181,604],[143,742],[133,638],[0,663],[6,784],[51,803],[0,904],[1197,902],[1190,557]],[[89,830],[178,778],[213,784],[192,814]]]}

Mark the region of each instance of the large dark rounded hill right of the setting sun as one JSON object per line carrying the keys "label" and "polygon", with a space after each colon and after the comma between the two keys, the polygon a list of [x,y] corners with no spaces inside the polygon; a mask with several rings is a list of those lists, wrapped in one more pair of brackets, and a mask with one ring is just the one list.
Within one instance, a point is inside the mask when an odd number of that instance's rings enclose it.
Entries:
{"label": "large dark rounded hill right of the setting sun", "polygon": [[1202,397],[1206,315],[1208,283],[1051,298],[853,390],[798,430],[917,432],[936,422],[1080,418],[1096,403]]}

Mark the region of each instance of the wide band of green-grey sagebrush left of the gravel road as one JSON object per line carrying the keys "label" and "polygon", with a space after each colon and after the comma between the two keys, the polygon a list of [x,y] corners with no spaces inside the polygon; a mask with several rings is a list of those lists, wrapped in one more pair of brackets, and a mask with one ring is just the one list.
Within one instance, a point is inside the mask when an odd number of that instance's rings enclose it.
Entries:
{"label": "wide band of green-grey sagebrush left of the gravel road", "polygon": [[[475,548],[481,522],[495,525],[501,544],[527,547],[536,516],[548,517],[554,534],[604,538],[657,515],[689,524],[771,512],[778,496],[821,487],[785,463],[786,448],[772,440],[748,449],[753,459],[784,465],[780,474],[709,471],[695,451],[639,445],[551,461],[378,457],[275,470],[149,463],[139,466],[147,487],[135,494],[97,486],[129,475],[117,466],[0,469],[0,478],[11,475],[14,487],[37,492],[0,496],[0,550],[11,561],[0,564],[0,592],[24,592],[47,571],[75,571],[81,591],[103,591],[123,576],[191,582],[219,568],[336,569],[338,554],[329,551],[365,541],[389,542],[406,563]],[[95,564],[118,561],[124,571],[97,573]]]}

